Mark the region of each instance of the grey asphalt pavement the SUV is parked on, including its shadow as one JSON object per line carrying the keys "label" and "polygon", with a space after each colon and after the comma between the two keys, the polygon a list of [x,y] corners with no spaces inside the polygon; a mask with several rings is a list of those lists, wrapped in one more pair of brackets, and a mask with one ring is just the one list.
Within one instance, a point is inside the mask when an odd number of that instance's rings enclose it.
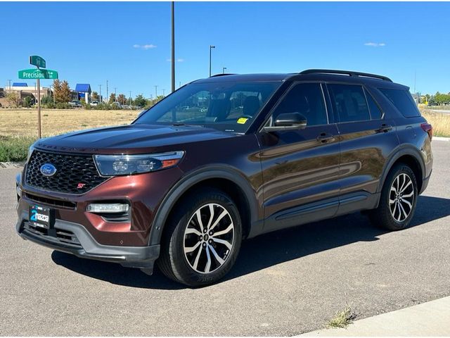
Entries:
{"label": "grey asphalt pavement the SUV is parked on, including its shadow", "polygon": [[360,213],[244,242],[223,282],[188,289],[158,270],[76,258],[15,234],[17,168],[0,169],[1,335],[292,335],[348,303],[365,318],[450,295],[450,142],[411,227]]}

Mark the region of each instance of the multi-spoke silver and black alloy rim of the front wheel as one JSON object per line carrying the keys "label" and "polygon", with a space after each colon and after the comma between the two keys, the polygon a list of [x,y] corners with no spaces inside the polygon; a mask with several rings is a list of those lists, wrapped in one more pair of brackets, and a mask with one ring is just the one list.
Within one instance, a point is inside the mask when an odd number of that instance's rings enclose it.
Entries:
{"label": "multi-spoke silver and black alloy rim of the front wheel", "polygon": [[193,213],[184,231],[186,261],[197,273],[212,273],[228,258],[234,243],[229,211],[219,204],[205,204]]}

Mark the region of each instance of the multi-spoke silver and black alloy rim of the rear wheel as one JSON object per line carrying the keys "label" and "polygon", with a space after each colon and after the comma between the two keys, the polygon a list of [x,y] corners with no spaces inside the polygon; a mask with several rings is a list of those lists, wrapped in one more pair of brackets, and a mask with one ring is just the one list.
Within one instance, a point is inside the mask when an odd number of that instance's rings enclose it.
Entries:
{"label": "multi-spoke silver and black alloy rim of the rear wheel", "polygon": [[414,185],[411,177],[401,173],[395,177],[389,194],[391,215],[397,222],[403,222],[413,210]]}

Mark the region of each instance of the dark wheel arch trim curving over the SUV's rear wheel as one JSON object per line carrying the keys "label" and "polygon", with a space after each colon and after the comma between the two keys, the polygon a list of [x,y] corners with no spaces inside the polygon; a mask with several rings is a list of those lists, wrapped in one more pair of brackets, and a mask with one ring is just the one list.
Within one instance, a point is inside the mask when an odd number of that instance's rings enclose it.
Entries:
{"label": "dark wheel arch trim curving over the SUV's rear wheel", "polygon": [[394,167],[394,165],[396,165],[397,163],[405,163],[409,165],[411,170],[413,170],[414,175],[416,175],[418,192],[420,192],[423,187],[423,180],[425,178],[425,163],[423,162],[420,151],[413,146],[402,147],[401,149],[396,151],[386,162],[385,168],[383,169],[383,175],[378,184],[377,192],[381,192],[381,190],[383,189],[383,185],[385,184],[387,174],[390,173],[392,167]]}

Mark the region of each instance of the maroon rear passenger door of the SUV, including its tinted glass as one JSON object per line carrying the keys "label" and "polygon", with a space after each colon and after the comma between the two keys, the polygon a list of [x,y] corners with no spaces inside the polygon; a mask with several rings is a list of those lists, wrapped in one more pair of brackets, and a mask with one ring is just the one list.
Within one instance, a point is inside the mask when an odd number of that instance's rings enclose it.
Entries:
{"label": "maroon rear passenger door of the SUV, including its tinted glass", "polygon": [[327,87],[340,133],[338,213],[374,207],[383,165],[399,144],[394,123],[362,84]]}

